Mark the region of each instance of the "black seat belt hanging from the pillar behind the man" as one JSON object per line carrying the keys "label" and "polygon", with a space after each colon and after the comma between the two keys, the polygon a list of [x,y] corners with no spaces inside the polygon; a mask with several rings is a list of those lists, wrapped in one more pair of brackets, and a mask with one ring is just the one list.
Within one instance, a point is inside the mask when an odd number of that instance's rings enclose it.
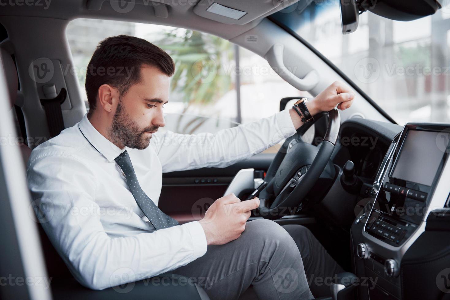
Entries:
{"label": "black seat belt hanging from the pillar behind the man", "polygon": [[49,126],[50,138],[56,137],[64,130],[63,111],[61,104],[66,100],[67,91],[61,88],[59,94],[56,94],[56,86],[54,84],[45,84],[42,86],[46,99],[40,99],[40,104],[44,106],[47,125]]}

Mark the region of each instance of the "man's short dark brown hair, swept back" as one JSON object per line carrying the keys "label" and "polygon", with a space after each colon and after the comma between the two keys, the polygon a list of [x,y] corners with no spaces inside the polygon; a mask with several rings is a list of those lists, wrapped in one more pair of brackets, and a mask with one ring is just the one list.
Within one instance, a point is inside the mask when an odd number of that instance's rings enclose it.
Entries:
{"label": "man's short dark brown hair, swept back", "polygon": [[99,87],[109,84],[120,95],[141,80],[142,65],[157,67],[167,76],[175,72],[175,63],[158,46],[130,35],[117,35],[102,40],[90,58],[86,70],[86,94],[89,112],[94,111]]}

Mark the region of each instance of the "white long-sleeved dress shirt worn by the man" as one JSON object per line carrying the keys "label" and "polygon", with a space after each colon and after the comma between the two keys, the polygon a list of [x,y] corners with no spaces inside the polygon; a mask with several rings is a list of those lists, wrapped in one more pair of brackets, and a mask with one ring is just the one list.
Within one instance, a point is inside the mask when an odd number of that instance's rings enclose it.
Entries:
{"label": "white long-sleeved dress shirt worn by the man", "polygon": [[[142,190],[157,205],[162,172],[223,168],[294,133],[284,110],[215,134],[156,132],[147,149],[125,149]],[[45,216],[40,222],[74,277],[92,289],[162,274],[207,251],[197,221],[154,231],[114,161],[125,149],[103,137],[85,115],[36,147],[28,161],[33,207]]]}

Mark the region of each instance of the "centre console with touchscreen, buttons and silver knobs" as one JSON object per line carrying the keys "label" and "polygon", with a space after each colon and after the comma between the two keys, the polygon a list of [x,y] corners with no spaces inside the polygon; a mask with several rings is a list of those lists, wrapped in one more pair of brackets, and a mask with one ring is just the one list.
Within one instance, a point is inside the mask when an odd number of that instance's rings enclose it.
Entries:
{"label": "centre console with touchscreen, buttons and silver knobs", "polygon": [[368,299],[402,299],[402,258],[430,212],[449,197],[449,137],[449,125],[406,124],[392,141],[373,185],[374,202],[351,229],[356,274],[377,278]]}

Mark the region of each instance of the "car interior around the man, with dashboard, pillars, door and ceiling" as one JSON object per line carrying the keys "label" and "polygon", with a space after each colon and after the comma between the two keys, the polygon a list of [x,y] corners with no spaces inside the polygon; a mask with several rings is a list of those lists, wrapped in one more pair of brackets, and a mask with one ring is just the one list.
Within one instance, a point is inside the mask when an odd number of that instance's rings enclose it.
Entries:
{"label": "car interior around the man, with dashboard, pillars, door and ceiling", "polygon": [[[450,121],[397,124],[376,98],[302,38],[293,25],[300,12],[326,2],[0,3],[0,298],[209,299],[201,287],[181,284],[136,282],[131,291],[83,287],[36,221],[27,159],[34,147],[78,123],[87,111],[83,87],[64,66],[74,64],[68,24],[88,18],[204,32],[262,57],[277,76],[313,97],[337,80],[356,94],[349,109],[315,116],[313,124],[299,128],[272,153],[226,168],[163,173],[158,205],[163,212],[181,224],[200,220],[215,199],[229,193],[245,199],[267,181],[249,221],[304,225],[349,272],[347,277],[372,280],[366,285],[333,282],[331,296],[321,299],[450,299]],[[361,29],[358,19],[365,15],[407,26],[446,8],[436,0],[329,2],[338,3],[339,31],[348,36]],[[331,40],[328,47],[335,47]],[[298,99],[291,96],[272,99],[278,111]],[[240,299],[252,298],[244,293]]]}

